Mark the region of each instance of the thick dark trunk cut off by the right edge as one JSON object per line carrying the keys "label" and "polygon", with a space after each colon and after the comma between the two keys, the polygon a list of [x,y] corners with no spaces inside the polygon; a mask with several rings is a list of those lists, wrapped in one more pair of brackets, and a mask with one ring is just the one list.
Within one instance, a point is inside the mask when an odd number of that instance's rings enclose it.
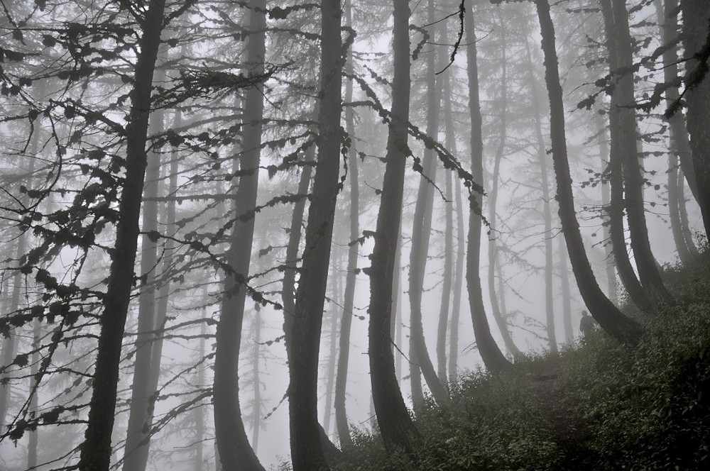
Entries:
{"label": "thick dark trunk cut off by the right edge", "polygon": [[[683,45],[685,47],[686,93],[688,107],[687,128],[690,134],[690,150],[697,184],[696,199],[700,206],[705,226],[705,235],[710,238],[710,77],[705,75],[698,84],[689,84],[693,76],[699,76],[697,55],[706,48],[709,37],[710,9],[706,0],[680,0],[683,13]],[[704,65],[705,70],[707,62]],[[688,174],[688,172],[686,172]],[[688,174],[690,177],[690,175]]]}

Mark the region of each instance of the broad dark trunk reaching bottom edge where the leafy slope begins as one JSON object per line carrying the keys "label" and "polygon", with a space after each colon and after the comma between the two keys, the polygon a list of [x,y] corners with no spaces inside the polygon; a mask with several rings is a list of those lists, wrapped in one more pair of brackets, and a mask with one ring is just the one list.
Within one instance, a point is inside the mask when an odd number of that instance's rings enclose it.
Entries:
{"label": "broad dark trunk reaching bottom edge where the leafy slope begins", "polygon": [[327,468],[318,423],[318,353],[330,260],[342,131],[340,2],[322,0],[318,165],[308,209],[289,358],[291,460],[294,471]]}

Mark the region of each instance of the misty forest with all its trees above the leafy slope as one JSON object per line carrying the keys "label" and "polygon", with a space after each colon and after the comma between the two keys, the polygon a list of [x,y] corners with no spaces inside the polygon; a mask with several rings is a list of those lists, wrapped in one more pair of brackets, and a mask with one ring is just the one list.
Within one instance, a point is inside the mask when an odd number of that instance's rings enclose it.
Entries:
{"label": "misty forest with all its trees above the leafy slope", "polygon": [[0,1],[0,470],[328,469],[635,343],[710,229],[701,0]]}

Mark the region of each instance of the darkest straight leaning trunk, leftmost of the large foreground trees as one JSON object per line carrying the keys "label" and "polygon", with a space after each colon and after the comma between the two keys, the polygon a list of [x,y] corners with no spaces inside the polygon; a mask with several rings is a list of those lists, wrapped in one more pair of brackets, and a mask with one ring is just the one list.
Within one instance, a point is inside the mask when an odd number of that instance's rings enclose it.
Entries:
{"label": "darkest straight leaning trunk, leftmost of the large foreground trees", "polygon": [[119,203],[116,243],[111,268],[89,402],[89,419],[81,447],[80,471],[107,471],[111,460],[116,389],[119,383],[121,343],[133,288],[133,265],[138,247],[138,219],[146,177],[148,118],[151,114],[153,72],[163,31],[165,0],[151,1],[142,18],[138,60],[133,72],[131,114],[126,126],[126,176]]}

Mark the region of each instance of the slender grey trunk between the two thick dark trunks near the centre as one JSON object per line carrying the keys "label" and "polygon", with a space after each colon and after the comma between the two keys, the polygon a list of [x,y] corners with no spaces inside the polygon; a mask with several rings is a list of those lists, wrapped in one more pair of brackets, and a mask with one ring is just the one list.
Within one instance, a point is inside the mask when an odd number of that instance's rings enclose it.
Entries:
{"label": "slender grey trunk between the two thick dark trunks near the centre", "polygon": [[[345,24],[352,26],[352,2],[345,2]],[[346,72],[353,74],[352,51],[348,50],[346,60]],[[347,79],[345,83],[345,101],[350,103],[353,99],[353,79]],[[352,445],[350,429],[348,426],[348,415],[345,407],[346,389],[348,381],[348,365],[350,360],[350,331],[355,306],[355,284],[357,282],[357,257],[358,245],[354,241],[360,237],[360,188],[359,188],[359,162],[355,149],[355,117],[352,106],[345,109],[345,131],[351,139],[348,148],[348,169],[350,174],[350,244],[348,248],[348,266],[345,279],[345,293],[343,299],[343,313],[340,318],[339,355],[338,371],[335,379],[335,426],[338,431],[341,448]]]}

